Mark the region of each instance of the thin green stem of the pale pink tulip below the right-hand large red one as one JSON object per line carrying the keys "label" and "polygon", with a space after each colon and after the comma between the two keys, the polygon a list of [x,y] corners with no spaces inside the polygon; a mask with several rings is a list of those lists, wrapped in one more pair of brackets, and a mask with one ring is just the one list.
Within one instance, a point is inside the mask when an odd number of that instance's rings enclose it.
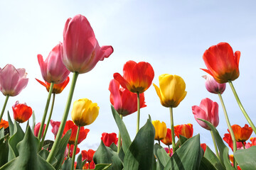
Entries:
{"label": "thin green stem of the pale pink tulip below the right-hand large red one", "polygon": [[[224,115],[225,115],[225,120],[226,120],[226,123],[228,125],[228,130],[230,131],[230,135],[231,135],[231,138],[232,138],[233,153],[235,153],[236,150],[237,150],[235,135],[234,135],[233,129],[231,128],[230,120],[228,119],[228,113],[227,113],[227,110],[225,109],[225,104],[224,104],[223,98],[222,98],[221,94],[218,94],[218,96],[220,98],[220,103],[221,103],[221,106],[223,107],[223,112],[224,112]],[[236,167],[235,157],[234,157],[234,167]]]}

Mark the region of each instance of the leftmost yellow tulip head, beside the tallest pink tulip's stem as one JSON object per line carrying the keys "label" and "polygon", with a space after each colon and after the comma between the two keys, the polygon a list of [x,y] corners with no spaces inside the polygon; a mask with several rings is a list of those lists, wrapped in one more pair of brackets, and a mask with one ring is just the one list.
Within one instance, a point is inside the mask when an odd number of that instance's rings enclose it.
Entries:
{"label": "leftmost yellow tulip head, beside the tallest pink tulip's stem", "polygon": [[99,115],[100,107],[87,98],[81,98],[73,103],[71,118],[75,125],[90,125]]}

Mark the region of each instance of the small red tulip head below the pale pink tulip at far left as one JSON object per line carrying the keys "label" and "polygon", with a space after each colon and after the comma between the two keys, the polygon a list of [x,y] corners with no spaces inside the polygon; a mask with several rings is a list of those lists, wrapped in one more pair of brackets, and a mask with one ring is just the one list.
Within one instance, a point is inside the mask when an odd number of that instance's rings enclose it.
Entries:
{"label": "small red tulip head below the pale pink tulip at far left", "polygon": [[14,119],[18,123],[26,122],[33,113],[31,107],[27,106],[26,103],[18,103],[18,101],[12,106],[12,109],[14,111]]}

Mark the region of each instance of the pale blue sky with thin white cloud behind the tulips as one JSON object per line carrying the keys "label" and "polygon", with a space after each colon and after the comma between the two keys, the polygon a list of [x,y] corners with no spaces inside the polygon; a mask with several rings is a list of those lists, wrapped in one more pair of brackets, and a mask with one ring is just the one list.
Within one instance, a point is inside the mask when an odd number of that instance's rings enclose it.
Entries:
{"label": "pale blue sky with thin white cloud behind the tulips", "polygon": [[[256,123],[255,5],[255,1],[213,0],[0,1],[0,67],[13,64],[16,68],[25,68],[29,79],[21,94],[9,98],[6,112],[13,117],[11,106],[16,101],[26,102],[36,113],[36,123],[41,122],[48,93],[35,80],[43,80],[37,55],[46,59],[50,50],[63,41],[65,21],[80,13],[87,17],[100,45],[112,45],[114,52],[98,62],[92,71],[78,76],[73,101],[89,98],[100,106],[98,118],[85,127],[90,132],[78,147],[97,149],[102,132],[118,133],[110,109],[108,86],[113,74],[122,74],[124,63],[134,60],[151,64],[155,73],[154,84],[158,85],[159,75],[166,73],[184,79],[188,94],[174,108],[174,125],[192,123],[193,134],[200,133],[201,143],[213,149],[210,132],[198,125],[191,110],[192,106],[199,106],[203,98],[210,98],[220,106],[218,96],[206,90],[205,80],[201,77],[206,74],[200,69],[206,68],[203,52],[219,42],[228,42],[234,52],[241,52],[240,77],[233,84],[247,114]],[[69,89],[70,84],[55,97],[52,117],[55,121],[62,119]],[[170,128],[169,109],[161,106],[154,86],[150,86],[144,95],[147,106],[141,109],[140,125],[144,125],[151,115],[152,120],[164,121]],[[4,100],[5,96],[0,95],[0,108]],[[230,123],[244,126],[247,121],[228,84],[223,100]],[[72,106],[70,112],[71,109]],[[4,119],[7,118],[6,112]],[[221,106],[219,118],[217,130],[223,137],[228,127]],[[70,114],[68,120],[71,120]],[[136,133],[136,121],[137,113],[124,117],[132,139]],[[50,130],[51,126],[46,139],[53,140]]]}

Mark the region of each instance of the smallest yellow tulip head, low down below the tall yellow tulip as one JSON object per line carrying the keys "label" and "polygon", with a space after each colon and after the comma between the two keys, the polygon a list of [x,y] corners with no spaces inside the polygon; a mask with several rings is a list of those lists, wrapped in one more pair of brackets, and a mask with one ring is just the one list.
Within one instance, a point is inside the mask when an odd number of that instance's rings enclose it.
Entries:
{"label": "smallest yellow tulip head, low down below the tall yellow tulip", "polygon": [[166,137],[167,128],[164,122],[160,123],[159,120],[153,120],[152,124],[155,128],[155,140],[163,140]]}

